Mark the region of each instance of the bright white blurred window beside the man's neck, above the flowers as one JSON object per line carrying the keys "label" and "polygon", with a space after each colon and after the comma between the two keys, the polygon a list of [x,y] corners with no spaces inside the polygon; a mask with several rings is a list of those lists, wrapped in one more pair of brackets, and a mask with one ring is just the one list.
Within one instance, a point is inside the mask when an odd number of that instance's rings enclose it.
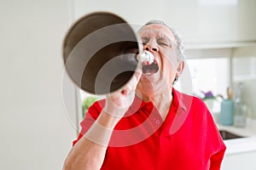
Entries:
{"label": "bright white blurred window beside the man's neck, above the flowers", "polygon": [[[187,63],[193,94],[203,98],[203,94],[210,91],[214,96],[221,95],[226,98],[226,91],[230,86],[230,58],[187,59]],[[212,113],[220,111],[220,101],[205,101]]]}

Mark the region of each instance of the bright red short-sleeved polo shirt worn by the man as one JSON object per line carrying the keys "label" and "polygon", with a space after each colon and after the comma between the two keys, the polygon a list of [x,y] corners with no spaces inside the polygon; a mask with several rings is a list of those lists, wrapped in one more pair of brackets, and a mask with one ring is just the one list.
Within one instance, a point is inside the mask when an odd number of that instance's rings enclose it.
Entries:
{"label": "bright red short-sleeved polo shirt worn by the man", "polygon": [[[201,99],[172,89],[172,105],[162,121],[152,102],[137,97],[114,128],[102,170],[219,169],[226,149]],[[101,113],[105,100],[92,105],[79,138]]]}

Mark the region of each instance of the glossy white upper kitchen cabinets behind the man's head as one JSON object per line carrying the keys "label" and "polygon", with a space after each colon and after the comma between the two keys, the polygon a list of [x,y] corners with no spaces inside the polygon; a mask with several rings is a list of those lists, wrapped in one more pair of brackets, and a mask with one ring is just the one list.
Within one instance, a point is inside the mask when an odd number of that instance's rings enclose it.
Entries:
{"label": "glossy white upper kitchen cabinets behind the man's head", "polygon": [[74,19],[90,12],[109,11],[137,25],[164,20],[183,35],[186,44],[199,47],[255,41],[255,8],[256,0],[73,1]]}

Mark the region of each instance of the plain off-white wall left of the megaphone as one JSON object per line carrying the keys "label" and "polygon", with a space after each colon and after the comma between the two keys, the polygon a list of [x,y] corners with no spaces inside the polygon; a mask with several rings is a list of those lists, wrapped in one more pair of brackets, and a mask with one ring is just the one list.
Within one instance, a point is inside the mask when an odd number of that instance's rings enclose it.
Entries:
{"label": "plain off-white wall left of the megaphone", "polygon": [[1,0],[0,20],[0,169],[61,169],[76,137],[61,94],[68,2]]}

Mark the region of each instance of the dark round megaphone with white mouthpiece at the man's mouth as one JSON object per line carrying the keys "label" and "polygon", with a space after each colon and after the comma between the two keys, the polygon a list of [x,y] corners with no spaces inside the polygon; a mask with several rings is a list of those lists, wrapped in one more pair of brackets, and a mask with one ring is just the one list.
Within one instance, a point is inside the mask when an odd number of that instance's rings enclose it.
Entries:
{"label": "dark round megaphone with white mouthpiece at the man's mouth", "polygon": [[77,20],[63,42],[68,76],[90,94],[110,94],[129,82],[141,60],[153,62],[129,24],[116,14],[95,12]]}

